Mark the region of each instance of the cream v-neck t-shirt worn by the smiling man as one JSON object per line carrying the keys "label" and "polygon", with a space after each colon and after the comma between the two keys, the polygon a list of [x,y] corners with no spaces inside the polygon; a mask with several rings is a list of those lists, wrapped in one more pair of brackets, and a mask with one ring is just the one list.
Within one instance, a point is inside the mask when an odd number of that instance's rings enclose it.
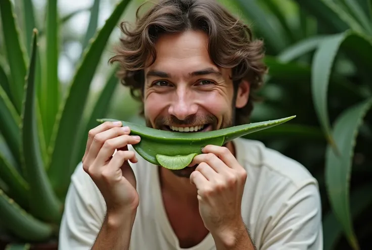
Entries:
{"label": "cream v-neck t-shirt worn by the smiling man", "polygon": [[[259,250],[323,248],[321,204],[317,181],[298,162],[255,140],[234,140],[236,157],[247,170],[242,217]],[[130,147],[130,150],[134,150]],[[157,167],[138,154],[131,164],[140,196],[130,250],[180,248],[163,207]],[[77,166],[67,194],[59,249],[87,250],[105,217],[104,199]],[[211,234],[189,250],[216,249]]]}

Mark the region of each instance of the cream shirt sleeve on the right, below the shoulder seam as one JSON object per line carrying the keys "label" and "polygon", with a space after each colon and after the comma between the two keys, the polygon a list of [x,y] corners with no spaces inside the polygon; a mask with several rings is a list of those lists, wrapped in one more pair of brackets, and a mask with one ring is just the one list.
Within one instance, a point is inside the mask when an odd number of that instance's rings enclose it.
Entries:
{"label": "cream shirt sleeve on the right, below the shoulder seam", "polygon": [[[316,180],[277,193],[260,250],[321,250],[321,201]],[[281,198],[278,198],[281,197]],[[281,205],[278,205],[281,203]],[[266,205],[267,206],[267,205]]]}

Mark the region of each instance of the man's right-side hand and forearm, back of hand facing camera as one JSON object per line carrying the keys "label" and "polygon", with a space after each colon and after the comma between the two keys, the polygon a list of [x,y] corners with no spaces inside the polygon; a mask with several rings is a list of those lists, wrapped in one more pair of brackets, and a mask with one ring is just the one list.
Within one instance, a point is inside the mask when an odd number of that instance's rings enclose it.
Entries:
{"label": "man's right-side hand and forearm, back of hand facing camera", "polygon": [[202,152],[190,164],[199,164],[190,182],[198,189],[205,227],[220,245],[217,249],[254,249],[241,216],[246,170],[226,147],[207,145]]}

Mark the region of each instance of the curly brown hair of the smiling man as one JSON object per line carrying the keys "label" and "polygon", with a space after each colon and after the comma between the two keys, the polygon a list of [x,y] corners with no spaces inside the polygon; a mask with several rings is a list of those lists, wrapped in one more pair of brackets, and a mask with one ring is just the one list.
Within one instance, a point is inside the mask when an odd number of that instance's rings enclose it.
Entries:
{"label": "curly brown hair of the smiling man", "polygon": [[[143,99],[144,68],[156,60],[155,42],[159,35],[201,30],[208,34],[208,51],[213,63],[232,70],[233,103],[241,80],[250,83],[248,103],[235,110],[234,118],[235,125],[248,123],[255,101],[252,90],[262,85],[267,71],[262,62],[263,42],[253,40],[251,29],[215,0],[159,0],[140,17],[139,12],[145,4],[136,11],[134,29],[129,30],[127,22],[120,24],[125,36],[120,38],[117,55],[109,61],[120,63],[118,77],[130,88],[132,97]],[[152,60],[146,65],[148,59]],[[141,115],[144,115],[143,107]]]}

